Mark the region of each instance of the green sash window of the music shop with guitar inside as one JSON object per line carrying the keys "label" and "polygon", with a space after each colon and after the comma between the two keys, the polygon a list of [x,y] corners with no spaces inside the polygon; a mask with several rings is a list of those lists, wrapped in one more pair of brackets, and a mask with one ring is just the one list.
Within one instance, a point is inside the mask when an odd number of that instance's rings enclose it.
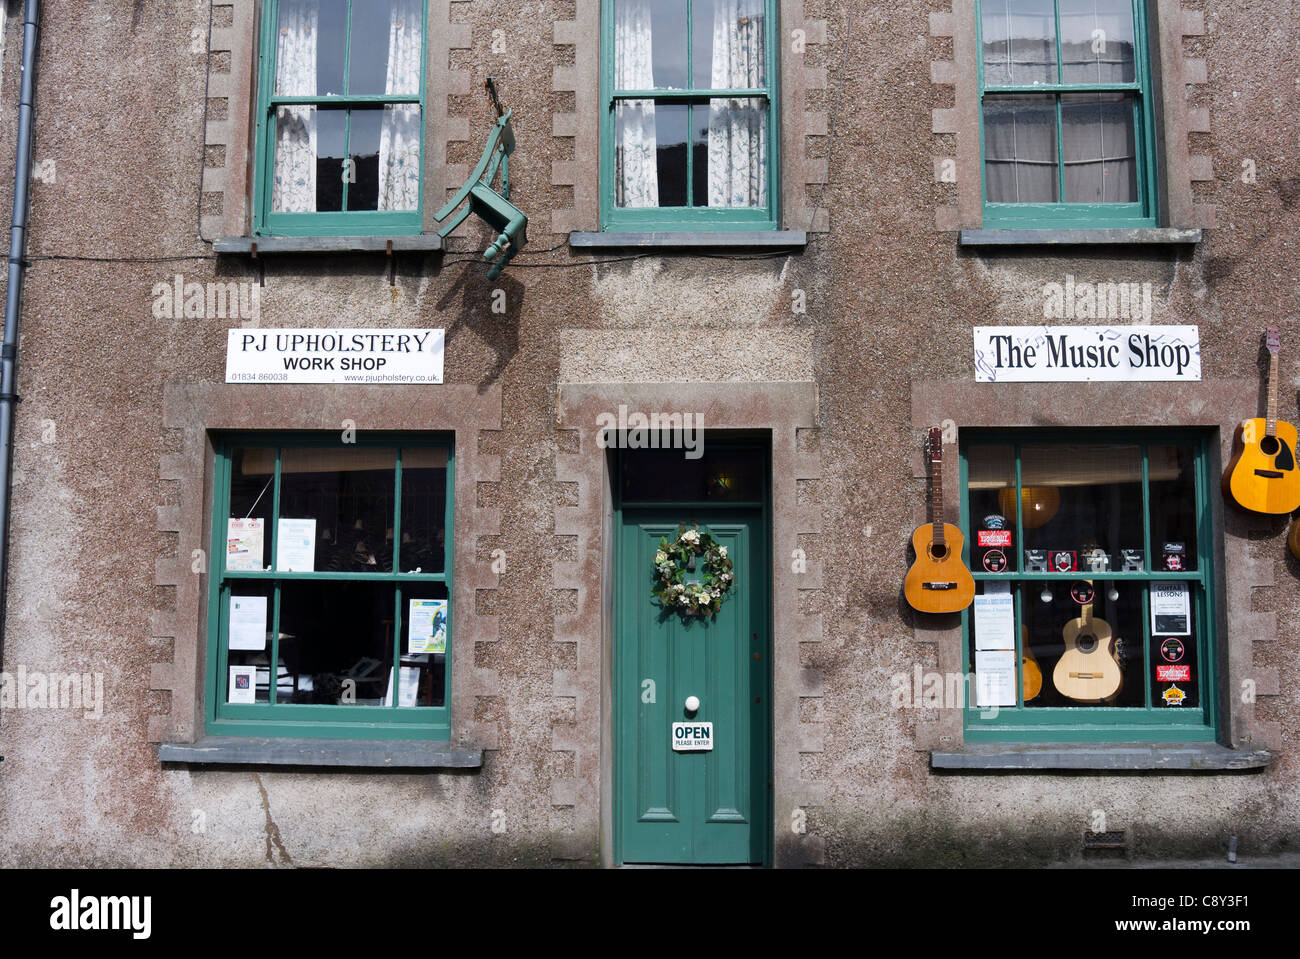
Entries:
{"label": "green sash window of the music shop with guitar inside", "polygon": [[1205,435],[963,430],[961,456],[967,739],[1212,742]]}

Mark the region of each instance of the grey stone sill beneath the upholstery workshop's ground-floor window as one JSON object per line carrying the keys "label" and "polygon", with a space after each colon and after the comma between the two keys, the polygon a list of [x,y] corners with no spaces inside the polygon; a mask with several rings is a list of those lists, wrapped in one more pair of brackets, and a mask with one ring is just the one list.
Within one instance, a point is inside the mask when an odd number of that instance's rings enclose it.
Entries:
{"label": "grey stone sill beneath the upholstery workshop's ground-floor window", "polygon": [[407,739],[290,739],[207,735],[165,742],[159,761],[190,765],[326,765],[369,769],[478,769],[484,751]]}

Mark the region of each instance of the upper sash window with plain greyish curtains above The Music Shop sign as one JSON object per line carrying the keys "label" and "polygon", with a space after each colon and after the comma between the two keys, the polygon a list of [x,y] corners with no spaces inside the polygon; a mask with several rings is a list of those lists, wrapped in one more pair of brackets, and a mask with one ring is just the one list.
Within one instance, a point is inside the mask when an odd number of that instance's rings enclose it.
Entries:
{"label": "upper sash window with plain greyish curtains above The Music Shop sign", "polygon": [[979,0],[985,227],[1156,226],[1144,0]]}

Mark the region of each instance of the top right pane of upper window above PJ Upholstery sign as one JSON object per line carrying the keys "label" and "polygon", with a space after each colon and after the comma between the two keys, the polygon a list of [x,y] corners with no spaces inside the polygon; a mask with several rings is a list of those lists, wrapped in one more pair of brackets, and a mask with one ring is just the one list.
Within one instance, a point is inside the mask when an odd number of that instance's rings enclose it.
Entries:
{"label": "top right pane of upper window above PJ Upholstery sign", "polygon": [[348,92],[420,92],[422,17],[421,0],[352,4]]}

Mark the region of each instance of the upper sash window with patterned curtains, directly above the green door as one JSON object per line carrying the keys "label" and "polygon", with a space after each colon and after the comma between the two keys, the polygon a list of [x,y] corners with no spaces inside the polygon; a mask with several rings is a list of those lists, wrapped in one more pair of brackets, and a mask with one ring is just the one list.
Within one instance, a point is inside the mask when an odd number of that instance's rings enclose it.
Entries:
{"label": "upper sash window with patterned curtains, directly above the green door", "polygon": [[776,227],[775,0],[604,0],[602,225]]}

